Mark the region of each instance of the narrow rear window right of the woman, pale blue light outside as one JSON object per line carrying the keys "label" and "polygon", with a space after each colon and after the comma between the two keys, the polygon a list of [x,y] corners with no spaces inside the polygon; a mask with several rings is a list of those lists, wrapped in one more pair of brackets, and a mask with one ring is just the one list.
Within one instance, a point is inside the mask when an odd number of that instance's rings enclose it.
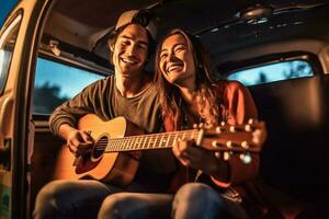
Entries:
{"label": "narrow rear window right of the woman, pale blue light outside", "polygon": [[292,60],[235,71],[227,79],[240,81],[245,85],[254,85],[311,76],[314,71],[307,61]]}

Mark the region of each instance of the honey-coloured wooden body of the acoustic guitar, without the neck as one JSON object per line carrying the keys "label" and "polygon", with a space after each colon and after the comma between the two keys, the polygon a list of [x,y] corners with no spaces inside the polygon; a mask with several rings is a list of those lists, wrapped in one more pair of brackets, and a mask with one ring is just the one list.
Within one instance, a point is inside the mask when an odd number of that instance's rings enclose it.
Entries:
{"label": "honey-coloured wooden body of the acoustic guitar, without the neck", "polygon": [[[126,120],[124,117],[116,117],[109,122],[103,122],[94,114],[88,114],[80,118],[79,130],[90,131],[94,140],[100,139],[104,134],[111,138],[122,138],[144,134],[144,131]],[[93,152],[97,151],[94,146]],[[102,182],[110,182],[112,185],[125,187],[132,183],[138,169],[141,152],[106,152],[98,153],[97,159],[76,157],[68,147],[63,146],[57,159],[55,178],[78,180],[94,178]],[[76,165],[73,165],[73,163]]]}

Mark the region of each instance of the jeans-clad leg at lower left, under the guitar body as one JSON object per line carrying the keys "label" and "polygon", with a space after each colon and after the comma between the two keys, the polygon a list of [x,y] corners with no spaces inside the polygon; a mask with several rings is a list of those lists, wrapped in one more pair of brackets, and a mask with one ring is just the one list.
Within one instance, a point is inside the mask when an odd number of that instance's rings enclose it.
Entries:
{"label": "jeans-clad leg at lower left, under the guitar body", "polygon": [[92,180],[53,181],[37,194],[35,219],[97,218],[106,196],[123,189]]}

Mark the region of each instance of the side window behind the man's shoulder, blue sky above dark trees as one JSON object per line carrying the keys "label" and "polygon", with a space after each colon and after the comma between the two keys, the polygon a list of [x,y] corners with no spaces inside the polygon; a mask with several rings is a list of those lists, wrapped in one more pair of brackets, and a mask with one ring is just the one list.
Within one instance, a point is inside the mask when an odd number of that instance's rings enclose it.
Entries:
{"label": "side window behind the man's shoulder, blue sky above dark trees", "polygon": [[33,94],[33,113],[50,114],[88,84],[104,76],[65,64],[37,58]]}

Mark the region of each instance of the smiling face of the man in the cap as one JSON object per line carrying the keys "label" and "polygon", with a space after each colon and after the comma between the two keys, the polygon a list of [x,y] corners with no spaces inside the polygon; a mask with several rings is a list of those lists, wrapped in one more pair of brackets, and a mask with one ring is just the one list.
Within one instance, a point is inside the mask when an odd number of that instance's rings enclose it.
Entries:
{"label": "smiling face of the man in the cap", "polygon": [[127,25],[117,36],[113,51],[115,73],[133,77],[141,73],[147,59],[148,37],[138,24]]}

